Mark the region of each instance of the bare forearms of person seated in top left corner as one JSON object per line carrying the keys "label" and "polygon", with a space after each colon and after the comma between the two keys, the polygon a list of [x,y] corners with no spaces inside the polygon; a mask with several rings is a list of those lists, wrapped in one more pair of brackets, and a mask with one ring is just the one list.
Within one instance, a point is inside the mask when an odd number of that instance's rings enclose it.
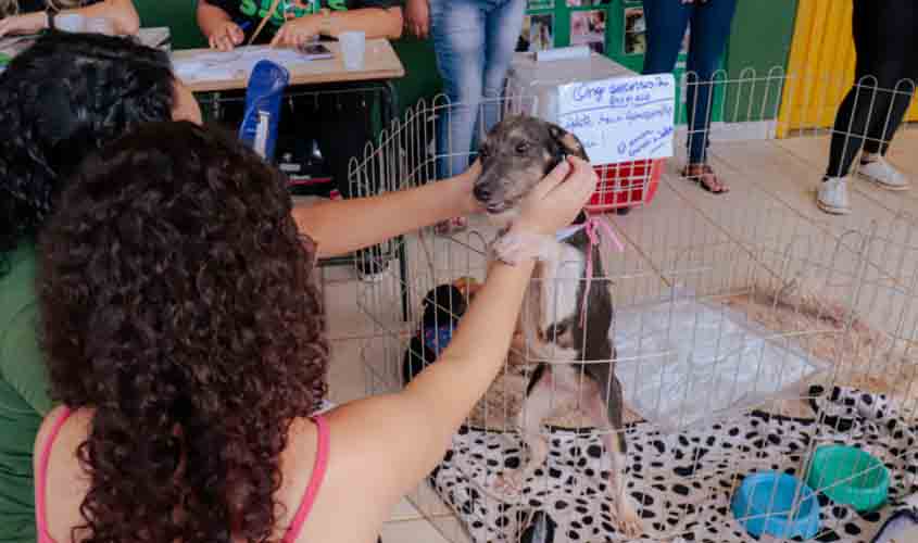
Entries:
{"label": "bare forearms of person seated in top left corner", "polygon": [[0,0],[0,36],[54,28],[54,18],[64,13],[105,17],[120,35],[134,35],[140,28],[130,0]]}

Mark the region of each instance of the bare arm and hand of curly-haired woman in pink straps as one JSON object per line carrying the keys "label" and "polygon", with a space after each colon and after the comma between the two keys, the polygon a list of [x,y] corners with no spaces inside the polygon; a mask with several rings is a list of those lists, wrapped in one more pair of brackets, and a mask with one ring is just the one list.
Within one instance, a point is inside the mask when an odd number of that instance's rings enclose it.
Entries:
{"label": "bare arm and hand of curly-haired woman in pink straps", "polygon": [[[569,161],[527,197],[512,231],[553,235],[574,220],[596,177],[588,163]],[[503,366],[532,268],[532,261],[493,264],[436,364],[401,393],[354,402],[330,414],[332,449],[344,455],[341,462],[353,470],[354,480],[373,481],[378,493],[368,495],[398,500],[442,459],[451,437]]]}

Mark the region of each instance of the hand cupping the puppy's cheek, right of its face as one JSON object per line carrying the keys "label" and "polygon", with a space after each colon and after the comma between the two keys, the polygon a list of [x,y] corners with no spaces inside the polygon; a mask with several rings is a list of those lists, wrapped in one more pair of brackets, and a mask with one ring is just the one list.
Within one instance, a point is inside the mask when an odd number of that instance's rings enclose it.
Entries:
{"label": "hand cupping the puppy's cheek, right of its face", "polygon": [[589,162],[568,156],[519,203],[511,231],[554,235],[577,218],[596,190],[599,177]]}

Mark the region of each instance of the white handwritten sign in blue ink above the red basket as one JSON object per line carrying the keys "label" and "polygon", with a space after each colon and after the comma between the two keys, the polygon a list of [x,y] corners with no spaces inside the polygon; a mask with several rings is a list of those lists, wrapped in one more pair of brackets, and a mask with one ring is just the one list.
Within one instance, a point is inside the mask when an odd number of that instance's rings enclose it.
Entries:
{"label": "white handwritten sign in blue ink above the red basket", "polygon": [[558,88],[558,124],[593,164],[672,156],[672,76],[616,77]]}

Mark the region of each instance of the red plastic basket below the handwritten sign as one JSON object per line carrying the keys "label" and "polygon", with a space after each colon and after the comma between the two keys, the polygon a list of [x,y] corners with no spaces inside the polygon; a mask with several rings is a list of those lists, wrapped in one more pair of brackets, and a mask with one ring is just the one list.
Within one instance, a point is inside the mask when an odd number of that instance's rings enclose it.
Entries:
{"label": "red plastic basket below the handwritten sign", "polygon": [[593,166],[600,184],[587,210],[602,212],[649,204],[665,166],[665,159]]}

